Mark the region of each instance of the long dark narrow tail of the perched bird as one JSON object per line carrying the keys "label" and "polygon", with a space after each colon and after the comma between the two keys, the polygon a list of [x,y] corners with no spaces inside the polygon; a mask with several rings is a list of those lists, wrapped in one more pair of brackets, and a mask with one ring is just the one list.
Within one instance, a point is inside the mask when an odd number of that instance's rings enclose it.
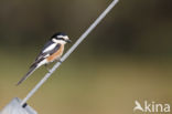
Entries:
{"label": "long dark narrow tail of the perched bird", "polygon": [[37,65],[31,65],[30,71],[17,83],[17,85],[21,84],[23,81],[25,81],[35,70],[37,69]]}

